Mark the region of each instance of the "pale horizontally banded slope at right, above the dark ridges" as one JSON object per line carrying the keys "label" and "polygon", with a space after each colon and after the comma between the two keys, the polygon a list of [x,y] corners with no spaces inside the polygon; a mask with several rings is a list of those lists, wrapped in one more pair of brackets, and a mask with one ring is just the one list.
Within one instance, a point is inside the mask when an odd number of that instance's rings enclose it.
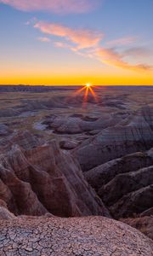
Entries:
{"label": "pale horizontally banded slope at right, above the dark ridges", "polygon": [[125,154],[145,151],[153,146],[153,130],[150,112],[144,115],[139,111],[119,124],[108,127],[95,137],[88,139],[74,149],[74,154],[82,166],[82,171],[88,170],[120,158]]}

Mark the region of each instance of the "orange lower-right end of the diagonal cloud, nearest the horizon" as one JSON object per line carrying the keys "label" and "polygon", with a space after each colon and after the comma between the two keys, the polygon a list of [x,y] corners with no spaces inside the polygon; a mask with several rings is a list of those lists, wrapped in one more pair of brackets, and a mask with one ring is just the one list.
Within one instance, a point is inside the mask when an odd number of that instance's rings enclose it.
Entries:
{"label": "orange lower-right end of the diagonal cloud, nearest the horizon", "polygon": [[138,65],[132,65],[127,63],[127,61],[123,60],[123,57],[125,55],[117,53],[115,49],[99,48],[95,50],[95,55],[97,55],[97,57],[99,58],[99,61],[102,61],[106,64],[109,64],[115,67],[122,67],[122,68],[132,69],[135,71],[139,71],[139,70],[148,71],[152,69],[152,67],[144,63],[140,63]]}

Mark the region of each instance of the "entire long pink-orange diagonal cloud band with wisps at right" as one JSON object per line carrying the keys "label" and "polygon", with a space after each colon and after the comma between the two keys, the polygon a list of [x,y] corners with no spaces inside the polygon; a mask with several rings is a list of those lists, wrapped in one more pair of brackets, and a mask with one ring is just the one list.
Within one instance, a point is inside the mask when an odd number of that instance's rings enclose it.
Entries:
{"label": "entire long pink-orange diagonal cloud band with wisps at right", "polygon": [[[133,71],[149,71],[152,68],[143,62],[131,64],[129,61],[125,61],[126,57],[130,57],[132,53],[134,57],[134,53],[138,51],[138,48],[137,50],[136,48],[131,49],[130,52],[130,49],[128,51],[121,51],[120,47],[124,44],[132,44],[132,41],[135,44],[134,38],[119,38],[106,43],[106,46],[102,46],[104,44],[102,42],[104,35],[101,32],[88,29],[72,29],[67,26],[44,21],[37,21],[34,27],[39,29],[43,34],[52,36],[52,38],[53,36],[55,38],[61,38],[58,42],[55,40],[54,45],[59,48],[70,49],[78,55],[97,59],[110,66]],[[109,44],[117,44],[117,47],[108,47]]]}

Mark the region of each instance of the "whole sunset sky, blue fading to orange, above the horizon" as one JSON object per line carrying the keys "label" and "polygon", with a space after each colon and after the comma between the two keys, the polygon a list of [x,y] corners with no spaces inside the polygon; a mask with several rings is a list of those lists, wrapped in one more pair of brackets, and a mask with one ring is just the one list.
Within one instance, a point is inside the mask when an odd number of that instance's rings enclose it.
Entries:
{"label": "whole sunset sky, blue fading to orange, above the horizon", "polygon": [[0,0],[0,84],[153,84],[152,0]]}

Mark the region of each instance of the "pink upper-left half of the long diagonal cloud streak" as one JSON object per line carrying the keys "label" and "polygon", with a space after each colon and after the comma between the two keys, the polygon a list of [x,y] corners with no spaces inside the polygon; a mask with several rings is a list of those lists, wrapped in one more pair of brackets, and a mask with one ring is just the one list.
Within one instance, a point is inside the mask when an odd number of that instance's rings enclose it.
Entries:
{"label": "pink upper-left half of the long diagonal cloud streak", "polygon": [[99,44],[102,39],[102,34],[99,32],[93,32],[84,29],[71,29],[67,26],[48,22],[37,22],[36,28],[39,28],[41,32],[65,38],[73,44],[77,44],[77,49],[91,48]]}

